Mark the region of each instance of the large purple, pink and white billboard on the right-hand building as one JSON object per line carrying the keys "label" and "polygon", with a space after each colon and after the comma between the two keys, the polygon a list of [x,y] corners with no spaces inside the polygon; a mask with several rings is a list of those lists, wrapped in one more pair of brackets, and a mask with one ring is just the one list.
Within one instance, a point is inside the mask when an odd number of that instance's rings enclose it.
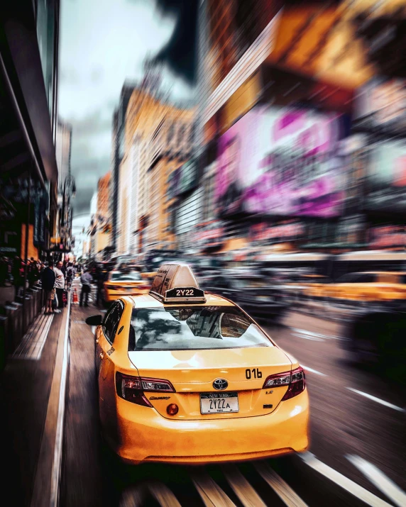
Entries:
{"label": "large purple, pink and white billboard on the right-hand building", "polygon": [[339,116],[255,108],[219,139],[216,213],[334,217],[344,199]]}

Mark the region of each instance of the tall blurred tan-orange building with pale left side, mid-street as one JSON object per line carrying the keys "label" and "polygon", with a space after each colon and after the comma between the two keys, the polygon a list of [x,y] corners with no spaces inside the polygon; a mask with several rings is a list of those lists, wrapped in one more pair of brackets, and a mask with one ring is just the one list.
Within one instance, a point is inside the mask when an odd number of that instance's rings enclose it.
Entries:
{"label": "tall blurred tan-orange building with pale left side, mid-street", "polygon": [[[194,111],[170,104],[150,69],[128,102],[119,173],[118,252],[174,247],[170,175],[191,156]],[[149,81],[149,84],[148,84]]]}

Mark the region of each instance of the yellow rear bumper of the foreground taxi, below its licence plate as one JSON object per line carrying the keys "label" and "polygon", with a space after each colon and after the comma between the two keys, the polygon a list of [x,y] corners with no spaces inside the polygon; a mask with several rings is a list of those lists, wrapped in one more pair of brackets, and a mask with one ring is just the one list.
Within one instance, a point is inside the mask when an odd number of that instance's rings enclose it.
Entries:
{"label": "yellow rear bumper of the foreground taxi, below its licence plate", "polygon": [[170,420],[117,399],[116,430],[104,436],[124,462],[202,464],[304,451],[308,421],[307,390],[265,416],[199,421]]}

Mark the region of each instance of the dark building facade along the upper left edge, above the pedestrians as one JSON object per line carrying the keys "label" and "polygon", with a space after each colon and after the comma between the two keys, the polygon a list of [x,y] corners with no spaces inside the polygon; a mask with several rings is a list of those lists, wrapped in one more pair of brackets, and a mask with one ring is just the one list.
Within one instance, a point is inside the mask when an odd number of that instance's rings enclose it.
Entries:
{"label": "dark building facade along the upper left edge, above the pedestrians", "polygon": [[5,4],[0,35],[0,255],[38,258],[56,229],[59,1]]}

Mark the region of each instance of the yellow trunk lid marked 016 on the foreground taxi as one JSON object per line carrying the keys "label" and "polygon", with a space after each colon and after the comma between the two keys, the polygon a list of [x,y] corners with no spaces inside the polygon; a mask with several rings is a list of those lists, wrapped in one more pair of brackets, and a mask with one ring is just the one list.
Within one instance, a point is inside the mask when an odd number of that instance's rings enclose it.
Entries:
{"label": "yellow trunk lid marked 016 on the foreground taxi", "polygon": [[[146,397],[161,416],[180,420],[241,418],[271,413],[280,403],[287,386],[262,389],[265,379],[269,375],[292,369],[289,357],[275,346],[139,350],[128,352],[128,357],[141,377],[165,379],[172,383],[175,393],[146,392]],[[216,379],[228,382],[224,391],[214,389],[213,382]],[[221,393],[238,395],[238,411],[201,413],[201,394],[221,396]],[[166,412],[170,403],[179,406],[176,416],[168,416]],[[205,407],[207,403],[204,402]],[[226,406],[226,401],[222,403]],[[234,397],[234,406],[235,403]]]}

